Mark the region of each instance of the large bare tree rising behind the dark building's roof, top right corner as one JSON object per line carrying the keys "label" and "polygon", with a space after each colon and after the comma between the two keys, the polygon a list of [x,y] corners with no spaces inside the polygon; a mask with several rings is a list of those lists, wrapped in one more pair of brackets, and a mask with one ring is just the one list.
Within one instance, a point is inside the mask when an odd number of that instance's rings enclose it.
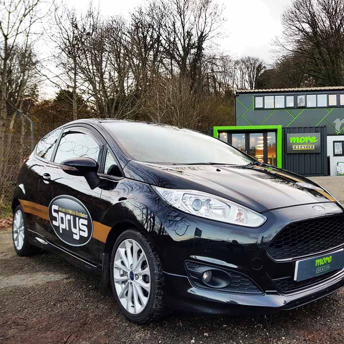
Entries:
{"label": "large bare tree rising behind the dark building's roof, top right corner", "polygon": [[343,84],[343,0],[294,0],[283,14],[282,24],[279,47],[284,55],[302,58],[309,83]]}

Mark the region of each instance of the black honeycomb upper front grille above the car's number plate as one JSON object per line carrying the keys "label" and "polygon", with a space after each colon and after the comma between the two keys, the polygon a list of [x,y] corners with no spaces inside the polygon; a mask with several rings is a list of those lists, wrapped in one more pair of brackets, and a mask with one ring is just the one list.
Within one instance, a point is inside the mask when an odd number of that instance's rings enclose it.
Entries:
{"label": "black honeycomb upper front grille above the car's number plate", "polygon": [[275,260],[311,255],[344,244],[344,216],[333,215],[286,226],[267,248]]}

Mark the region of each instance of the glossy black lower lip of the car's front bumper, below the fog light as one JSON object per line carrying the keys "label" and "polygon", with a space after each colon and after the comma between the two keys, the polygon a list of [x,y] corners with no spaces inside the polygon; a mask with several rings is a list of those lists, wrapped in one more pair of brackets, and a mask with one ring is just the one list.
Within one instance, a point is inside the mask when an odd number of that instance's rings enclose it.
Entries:
{"label": "glossy black lower lip of the car's front bumper, below the fog light", "polygon": [[344,271],[326,283],[283,295],[266,291],[263,295],[222,293],[195,288],[187,276],[165,273],[166,295],[172,309],[209,314],[274,314],[318,300],[344,287]]}

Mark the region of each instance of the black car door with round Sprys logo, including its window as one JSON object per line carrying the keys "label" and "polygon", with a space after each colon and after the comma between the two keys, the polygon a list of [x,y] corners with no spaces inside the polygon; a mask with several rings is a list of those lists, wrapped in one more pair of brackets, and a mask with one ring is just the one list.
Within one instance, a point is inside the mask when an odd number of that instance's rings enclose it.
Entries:
{"label": "black car door with round Sprys logo, including its window", "polygon": [[99,259],[98,240],[93,237],[93,229],[102,216],[101,183],[92,190],[84,177],[71,176],[60,167],[65,160],[79,157],[94,159],[101,166],[104,147],[104,139],[92,127],[66,127],[55,150],[53,163],[42,171],[49,185],[45,197],[48,197],[49,190],[51,195],[47,240],[91,262]]}

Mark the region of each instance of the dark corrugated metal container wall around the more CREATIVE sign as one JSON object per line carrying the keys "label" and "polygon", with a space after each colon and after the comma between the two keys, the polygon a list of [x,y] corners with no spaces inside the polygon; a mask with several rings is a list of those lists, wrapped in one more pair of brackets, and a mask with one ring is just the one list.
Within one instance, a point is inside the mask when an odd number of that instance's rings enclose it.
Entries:
{"label": "dark corrugated metal container wall around the more CREATIVE sign", "polygon": [[[321,133],[321,153],[287,154],[288,133]],[[282,167],[304,176],[327,176],[327,131],[326,127],[290,127],[283,128]]]}

